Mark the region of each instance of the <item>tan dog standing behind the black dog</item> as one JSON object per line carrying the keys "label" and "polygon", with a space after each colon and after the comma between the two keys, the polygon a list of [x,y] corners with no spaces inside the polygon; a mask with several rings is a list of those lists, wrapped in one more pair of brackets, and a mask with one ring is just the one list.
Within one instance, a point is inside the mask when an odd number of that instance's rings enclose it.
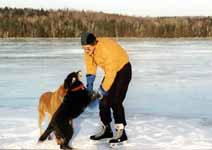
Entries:
{"label": "tan dog standing behind the black dog", "polygon": [[63,85],[61,85],[55,92],[45,92],[40,96],[38,105],[38,126],[40,129],[40,135],[42,134],[42,122],[45,119],[45,113],[48,113],[48,119],[51,120],[53,114],[60,106],[63,97],[66,95],[66,90]]}

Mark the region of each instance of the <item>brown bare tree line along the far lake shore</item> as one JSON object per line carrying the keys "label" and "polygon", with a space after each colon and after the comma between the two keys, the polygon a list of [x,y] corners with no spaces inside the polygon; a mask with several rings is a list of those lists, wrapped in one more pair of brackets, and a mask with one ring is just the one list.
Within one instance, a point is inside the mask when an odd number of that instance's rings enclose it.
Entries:
{"label": "brown bare tree line along the far lake shore", "polygon": [[212,37],[212,17],[135,17],[69,9],[0,8],[0,37]]}

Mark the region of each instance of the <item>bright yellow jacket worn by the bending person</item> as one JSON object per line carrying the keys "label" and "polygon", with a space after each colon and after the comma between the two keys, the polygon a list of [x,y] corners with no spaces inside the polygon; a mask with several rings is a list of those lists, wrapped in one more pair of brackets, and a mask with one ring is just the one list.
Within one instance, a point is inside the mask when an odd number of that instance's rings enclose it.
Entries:
{"label": "bright yellow jacket worn by the bending person", "polygon": [[120,71],[129,58],[125,50],[110,38],[98,38],[92,56],[84,53],[87,74],[96,74],[97,66],[104,70],[105,78],[102,88],[108,91],[113,84],[116,73]]}

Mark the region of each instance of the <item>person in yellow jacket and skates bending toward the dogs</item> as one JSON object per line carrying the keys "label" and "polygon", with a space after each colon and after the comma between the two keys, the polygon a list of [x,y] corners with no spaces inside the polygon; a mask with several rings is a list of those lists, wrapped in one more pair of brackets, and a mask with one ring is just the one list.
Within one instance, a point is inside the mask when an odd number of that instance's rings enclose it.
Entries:
{"label": "person in yellow jacket and skates bending toward the dogs", "polygon": [[[83,32],[81,45],[84,49],[87,90],[99,99],[99,115],[102,130],[90,136],[91,140],[112,138],[109,143],[127,141],[125,111],[123,101],[131,80],[131,64],[125,50],[111,38],[96,38],[93,33]],[[97,67],[104,71],[104,78],[95,92],[93,84]],[[115,120],[115,135],[110,126],[111,109]]]}

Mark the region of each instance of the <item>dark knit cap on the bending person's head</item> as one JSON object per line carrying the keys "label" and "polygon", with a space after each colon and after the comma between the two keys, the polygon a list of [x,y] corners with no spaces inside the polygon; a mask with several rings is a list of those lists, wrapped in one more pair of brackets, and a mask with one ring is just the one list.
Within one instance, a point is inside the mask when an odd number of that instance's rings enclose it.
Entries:
{"label": "dark knit cap on the bending person's head", "polygon": [[93,33],[83,32],[81,35],[81,45],[95,45],[96,37]]}

